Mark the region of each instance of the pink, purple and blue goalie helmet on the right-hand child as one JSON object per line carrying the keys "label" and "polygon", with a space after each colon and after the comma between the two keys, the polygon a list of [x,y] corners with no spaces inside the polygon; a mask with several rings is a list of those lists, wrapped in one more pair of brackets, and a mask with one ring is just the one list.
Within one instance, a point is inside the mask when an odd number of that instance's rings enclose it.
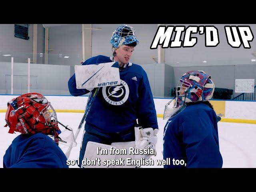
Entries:
{"label": "pink, purple and blue goalie helmet on the right-hand child", "polygon": [[189,71],[180,78],[181,86],[176,87],[174,108],[183,106],[184,102],[207,101],[212,98],[214,83],[211,76],[204,71]]}

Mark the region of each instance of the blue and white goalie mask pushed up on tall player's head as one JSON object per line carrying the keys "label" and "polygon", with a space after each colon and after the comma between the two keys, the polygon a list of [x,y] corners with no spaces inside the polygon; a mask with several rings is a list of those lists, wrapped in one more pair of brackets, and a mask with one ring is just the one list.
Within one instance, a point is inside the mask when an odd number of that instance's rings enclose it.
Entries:
{"label": "blue and white goalie mask pushed up on tall player's head", "polygon": [[122,45],[128,45],[139,41],[136,38],[135,29],[128,25],[120,25],[112,34],[110,43],[114,48],[119,48]]}

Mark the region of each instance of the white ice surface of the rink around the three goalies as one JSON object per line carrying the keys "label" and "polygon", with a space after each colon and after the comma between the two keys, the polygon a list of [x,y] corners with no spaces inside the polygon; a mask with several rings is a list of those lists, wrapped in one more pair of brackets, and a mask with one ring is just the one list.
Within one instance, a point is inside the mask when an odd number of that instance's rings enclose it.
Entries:
{"label": "white ice surface of the rink around the three goalies", "polygon": [[[76,132],[82,119],[83,113],[57,113],[58,121],[68,125]],[[9,134],[8,128],[5,128],[5,113],[0,113],[0,168],[3,167],[3,156],[6,149],[12,143],[12,140],[18,134]],[[162,137],[164,126],[167,120],[158,118],[158,143],[156,144],[157,154],[153,156],[154,166],[142,166],[147,168],[162,168],[156,166],[156,160],[162,159]],[[80,151],[84,126],[78,135],[76,142],[78,145],[71,151],[69,159],[77,160]],[[218,132],[220,141],[220,152],[223,158],[223,168],[256,168],[256,124],[227,123],[218,122]],[[67,146],[59,145],[63,152],[68,149]],[[78,168],[77,165],[70,168]]]}

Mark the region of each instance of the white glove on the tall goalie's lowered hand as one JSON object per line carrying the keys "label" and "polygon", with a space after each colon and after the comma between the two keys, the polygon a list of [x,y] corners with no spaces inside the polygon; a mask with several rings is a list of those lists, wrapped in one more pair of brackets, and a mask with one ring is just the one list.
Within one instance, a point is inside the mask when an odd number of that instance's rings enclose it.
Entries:
{"label": "white glove on the tall goalie's lowered hand", "polygon": [[[154,149],[156,152],[156,143],[157,143],[157,136],[158,129],[153,128],[142,128],[142,127],[135,127],[135,148],[138,149]],[[149,159],[151,154],[144,155],[140,158]]]}

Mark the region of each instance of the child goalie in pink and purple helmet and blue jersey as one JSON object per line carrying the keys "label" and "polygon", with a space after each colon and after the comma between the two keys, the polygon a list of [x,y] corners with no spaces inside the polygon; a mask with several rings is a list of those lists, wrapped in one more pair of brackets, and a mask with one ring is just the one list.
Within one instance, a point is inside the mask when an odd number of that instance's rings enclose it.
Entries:
{"label": "child goalie in pink and purple helmet and blue jersey", "polygon": [[164,128],[163,155],[170,158],[171,165],[165,168],[222,167],[218,119],[208,101],[214,92],[210,78],[203,71],[185,73],[176,88],[176,98],[166,104],[164,119],[169,119]]}

